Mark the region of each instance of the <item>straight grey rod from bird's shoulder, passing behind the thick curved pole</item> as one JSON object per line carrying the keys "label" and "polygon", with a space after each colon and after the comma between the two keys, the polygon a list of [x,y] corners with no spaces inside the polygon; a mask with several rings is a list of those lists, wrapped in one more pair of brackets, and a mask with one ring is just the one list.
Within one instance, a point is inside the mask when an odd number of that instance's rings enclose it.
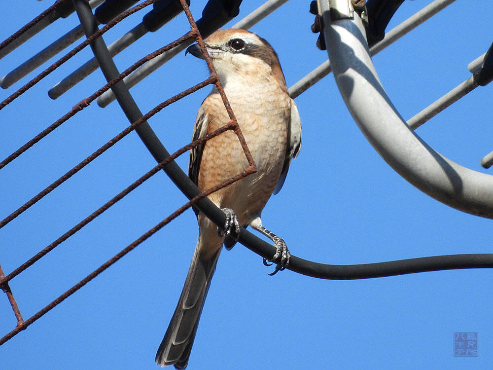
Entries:
{"label": "straight grey rod from bird's shoulder, passing behind the thick curved pole", "polygon": [[[430,19],[432,16],[437,14],[439,11],[443,10],[445,7],[450,5],[456,0],[435,0],[431,4],[425,6],[423,9],[418,11],[416,14],[412,15],[404,22],[398,26],[391,29],[385,34],[382,41],[376,43],[370,48],[370,55],[374,56],[384,50],[388,45],[397,41],[402,36],[408,34],[416,27],[423,24],[425,21]],[[315,85],[319,80],[325,77],[332,71],[330,67],[330,61],[327,60],[319,65],[315,70],[307,74],[305,77],[300,79],[294,85],[289,88],[289,95],[291,98],[296,98],[305,92],[307,89]]]}

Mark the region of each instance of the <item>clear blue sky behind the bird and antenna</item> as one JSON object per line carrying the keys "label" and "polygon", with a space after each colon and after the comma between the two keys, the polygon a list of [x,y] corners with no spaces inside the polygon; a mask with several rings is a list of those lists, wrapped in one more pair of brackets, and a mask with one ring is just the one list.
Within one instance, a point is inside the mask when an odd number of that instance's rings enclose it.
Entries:
{"label": "clear blue sky behind the bird and antenna", "polygon": [[[430,0],[404,1],[387,31]],[[192,1],[200,18],[205,1]],[[262,1],[244,1],[246,16]],[[315,47],[309,2],[289,1],[254,26],[279,54],[288,86],[327,58]],[[4,7],[1,39],[51,2]],[[406,119],[470,76],[467,64],[491,45],[478,0],[456,1],[374,57],[388,95]],[[128,31],[143,13],[105,35]],[[0,60],[6,74],[75,27],[72,14]],[[188,31],[183,14],[115,58],[124,70]],[[62,54],[61,54],[62,55]],[[93,73],[56,101],[47,90],[91,56],[89,48],[0,111],[3,159],[104,85]],[[46,63],[44,68],[48,66]],[[37,71],[39,73],[43,68]],[[6,91],[6,98],[35,74]],[[180,53],[131,89],[141,111],[208,76],[204,61]],[[478,87],[417,130],[461,165],[482,169],[493,150],[485,127],[492,86]],[[191,138],[210,88],[149,120],[170,152]],[[352,264],[414,257],[491,253],[491,220],[423,194],[395,173],[354,124],[329,74],[296,100],[303,145],[263,223],[299,257]],[[0,170],[4,218],[128,126],[112,103],[95,103]],[[178,163],[186,169],[188,154]],[[0,230],[0,263],[11,272],[155,166],[135,133]],[[24,319],[114,256],[186,202],[158,173],[35,265],[10,286]],[[156,369],[154,356],[188,271],[198,228],[186,211],[95,280],[0,347],[4,369]],[[241,245],[219,259],[188,369],[487,369],[492,362],[491,271],[455,270],[356,281],[319,280],[283,271],[274,277]],[[15,327],[0,299],[0,335]],[[454,332],[478,332],[479,356],[453,356]]]}

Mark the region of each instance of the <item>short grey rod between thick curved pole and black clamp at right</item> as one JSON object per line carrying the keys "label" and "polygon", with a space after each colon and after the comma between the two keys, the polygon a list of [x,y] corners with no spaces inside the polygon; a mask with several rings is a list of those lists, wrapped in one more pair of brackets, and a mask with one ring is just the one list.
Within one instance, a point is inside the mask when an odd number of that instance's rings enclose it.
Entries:
{"label": "short grey rod between thick curved pole and black clamp at right", "polygon": [[449,91],[447,94],[442,96],[440,99],[438,99],[437,101],[435,101],[434,103],[430,104],[428,107],[423,109],[423,111],[411,117],[407,121],[407,124],[409,125],[410,128],[416,130],[424,122],[430,120],[435,115],[437,115],[447,107],[457,102],[460,98],[470,93],[478,86],[479,85],[474,81],[474,77],[473,76],[469,77],[460,85],[458,85],[457,87]]}

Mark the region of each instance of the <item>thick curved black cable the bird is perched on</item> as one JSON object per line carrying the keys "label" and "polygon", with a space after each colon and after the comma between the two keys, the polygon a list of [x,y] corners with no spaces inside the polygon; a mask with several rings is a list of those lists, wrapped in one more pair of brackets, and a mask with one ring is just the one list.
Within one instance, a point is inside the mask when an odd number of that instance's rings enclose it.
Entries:
{"label": "thick curved black cable the bird is perched on", "polygon": [[[87,1],[73,0],[73,2],[86,35],[92,35],[97,31],[98,26]],[[105,74],[106,80],[111,81],[118,76],[118,70],[113,63],[103,38],[97,38],[91,44],[91,48],[100,64],[101,70]],[[114,85],[112,91],[130,122],[134,122],[142,116],[141,111],[123,81]],[[170,156],[147,122],[142,123],[136,131],[157,162],[162,162]],[[188,199],[200,194],[201,191],[199,188],[188,178],[175,161],[170,162],[164,168],[164,171]],[[195,206],[219,227],[224,225],[226,216],[209,199],[203,198],[197,201]],[[244,228],[240,232],[238,241],[251,251],[269,260],[276,253],[276,249],[272,245]],[[493,268],[493,254],[434,256],[351,265],[324,264],[292,256],[291,262],[286,268],[300,274],[321,279],[369,279],[438,270]]]}

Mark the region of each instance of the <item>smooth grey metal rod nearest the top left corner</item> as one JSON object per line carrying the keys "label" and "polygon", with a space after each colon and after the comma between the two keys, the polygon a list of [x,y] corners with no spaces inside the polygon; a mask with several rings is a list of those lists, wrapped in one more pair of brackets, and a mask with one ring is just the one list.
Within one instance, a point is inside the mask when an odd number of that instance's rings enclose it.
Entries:
{"label": "smooth grey metal rod nearest the top left corner", "polygon": [[[60,15],[56,12],[56,8],[67,1],[69,0],[56,1],[27,25],[4,40],[0,44],[0,59],[60,18]],[[91,0],[91,7],[94,8],[103,1],[104,0]]]}

